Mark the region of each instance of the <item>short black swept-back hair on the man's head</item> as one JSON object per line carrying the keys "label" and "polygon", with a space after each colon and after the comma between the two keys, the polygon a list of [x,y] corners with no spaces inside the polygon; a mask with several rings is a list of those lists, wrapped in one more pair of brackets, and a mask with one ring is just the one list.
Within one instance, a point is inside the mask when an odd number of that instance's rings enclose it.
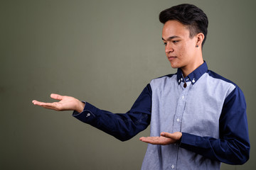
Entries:
{"label": "short black swept-back hair on the man's head", "polygon": [[188,26],[191,38],[198,33],[203,33],[205,36],[202,42],[203,47],[203,44],[206,41],[208,18],[201,8],[192,4],[180,4],[167,8],[159,13],[159,21],[161,23],[166,23],[170,20],[175,20]]}

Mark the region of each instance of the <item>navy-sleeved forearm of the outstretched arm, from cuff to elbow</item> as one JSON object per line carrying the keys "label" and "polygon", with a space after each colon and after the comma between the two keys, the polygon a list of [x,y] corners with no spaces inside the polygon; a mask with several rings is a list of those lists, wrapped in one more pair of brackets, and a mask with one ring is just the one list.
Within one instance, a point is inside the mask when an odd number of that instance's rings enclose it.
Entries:
{"label": "navy-sleeved forearm of the outstretched arm, from cuff to elbow", "polygon": [[106,132],[119,140],[129,140],[149,125],[150,115],[145,113],[111,113],[86,103],[82,113],[74,112],[73,116],[83,123]]}

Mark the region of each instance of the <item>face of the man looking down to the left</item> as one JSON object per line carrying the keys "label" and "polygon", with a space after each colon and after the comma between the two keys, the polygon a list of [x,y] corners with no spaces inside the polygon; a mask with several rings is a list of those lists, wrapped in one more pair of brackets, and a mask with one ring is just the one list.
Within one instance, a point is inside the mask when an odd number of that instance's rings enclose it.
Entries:
{"label": "face of the man looking down to the left", "polygon": [[[198,38],[190,38],[189,30],[178,21],[167,21],[164,24],[162,39],[165,45],[166,57],[171,67],[192,69],[198,62]],[[203,59],[202,59],[203,60]]]}

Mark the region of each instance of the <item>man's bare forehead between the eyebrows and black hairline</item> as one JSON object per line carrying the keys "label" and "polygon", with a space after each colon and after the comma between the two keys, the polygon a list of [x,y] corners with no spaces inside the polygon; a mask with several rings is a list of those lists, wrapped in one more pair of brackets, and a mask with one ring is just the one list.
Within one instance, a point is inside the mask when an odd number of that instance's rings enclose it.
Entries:
{"label": "man's bare forehead between the eyebrows and black hairline", "polygon": [[162,38],[166,40],[166,38],[169,38],[172,36],[188,38],[189,37],[188,27],[178,21],[173,21],[173,20],[167,21],[166,23],[164,23]]}

